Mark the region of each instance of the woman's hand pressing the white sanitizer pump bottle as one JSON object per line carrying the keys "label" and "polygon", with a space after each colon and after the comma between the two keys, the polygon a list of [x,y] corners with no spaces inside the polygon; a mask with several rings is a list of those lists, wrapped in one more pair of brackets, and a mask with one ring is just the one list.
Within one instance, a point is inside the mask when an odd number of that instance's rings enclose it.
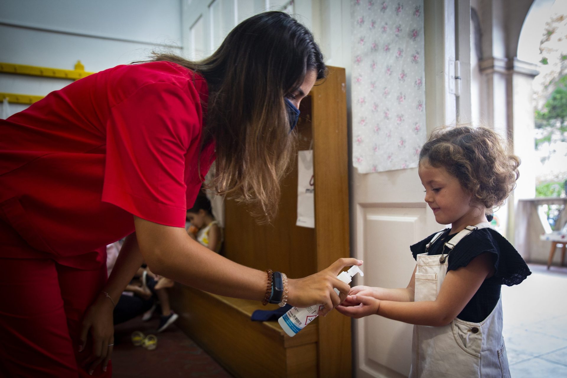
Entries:
{"label": "woman's hand pressing the white sanitizer pump bottle", "polygon": [[[327,269],[305,278],[289,279],[287,302],[295,307],[308,307],[321,304],[319,315],[327,315],[337,307],[349,294],[350,286],[337,278],[342,268],[351,265],[362,265],[356,258],[339,258]],[[337,295],[336,288],[340,294]]]}

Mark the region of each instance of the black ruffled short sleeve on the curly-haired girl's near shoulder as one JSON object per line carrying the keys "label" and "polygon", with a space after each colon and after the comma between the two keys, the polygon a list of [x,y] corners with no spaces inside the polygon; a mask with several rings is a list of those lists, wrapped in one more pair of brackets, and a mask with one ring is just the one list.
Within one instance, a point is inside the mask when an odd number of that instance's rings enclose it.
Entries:
{"label": "black ruffled short sleeve on the curly-haired girl's near shoulder", "polygon": [[464,237],[449,254],[447,270],[467,266],[475,257],[490,253],[494,264],[494,277],[502,284],[513,286],[531,274],[522,256],[500,233],[492,228],[481,228]]}

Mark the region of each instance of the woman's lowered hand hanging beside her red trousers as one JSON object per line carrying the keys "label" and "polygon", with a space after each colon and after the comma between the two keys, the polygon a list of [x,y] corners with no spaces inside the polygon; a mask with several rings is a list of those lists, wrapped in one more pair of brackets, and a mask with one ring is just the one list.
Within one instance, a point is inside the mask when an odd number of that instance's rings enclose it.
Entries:
{"label": "woman's lowered hand hanging beside her red trousers", "polygon": [[104,294],[100,294],[84,315],[79,352],[84,350],[90,331],[92,351],[91,355],[84,360],[83,367],[91,375],[101,362],[103,363],[103,371],[106,371],[108,360],[112,354],[112,345],[114,345],[113,311],[112,301],[106,298]]}

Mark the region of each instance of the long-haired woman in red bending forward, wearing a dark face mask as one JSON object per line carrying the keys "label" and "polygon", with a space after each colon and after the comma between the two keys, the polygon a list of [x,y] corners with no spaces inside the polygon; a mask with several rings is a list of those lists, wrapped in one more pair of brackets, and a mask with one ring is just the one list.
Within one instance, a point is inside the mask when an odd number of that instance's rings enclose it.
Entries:
{"label": "long-haired woman in red bending forward, wearing a dark face mask", "polygon": [[[273,218],[299,102],[325,71],[311,33],[266,12],[203,61],[117,66],[0,121],[0,375],[109,376],[112,309],[144,261],[263,300],[268,275],[192,240],[185,211],[216,159],[213,188]],[[107,280],[104,246],[125,236]],[[290,279],[288,302],[327,313],[349,291],[336,275],[354,264]]]}

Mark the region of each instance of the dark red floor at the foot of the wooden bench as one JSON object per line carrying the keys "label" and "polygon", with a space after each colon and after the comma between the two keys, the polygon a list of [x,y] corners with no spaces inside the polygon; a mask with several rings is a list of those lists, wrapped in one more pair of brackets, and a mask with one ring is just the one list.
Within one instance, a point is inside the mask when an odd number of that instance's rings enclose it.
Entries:
{"label": "dark red floor at the foot of the wooden bench", "polygon": [[[158,322],[157,317],[148,322],[137,317],[115,326],[113,377],[231,377],[175,324],[162,333],[156,333]],[[134,346],[130,341],[130,335],[134,331],[156,335],[157,348],[149,351],[141,346]]]}

